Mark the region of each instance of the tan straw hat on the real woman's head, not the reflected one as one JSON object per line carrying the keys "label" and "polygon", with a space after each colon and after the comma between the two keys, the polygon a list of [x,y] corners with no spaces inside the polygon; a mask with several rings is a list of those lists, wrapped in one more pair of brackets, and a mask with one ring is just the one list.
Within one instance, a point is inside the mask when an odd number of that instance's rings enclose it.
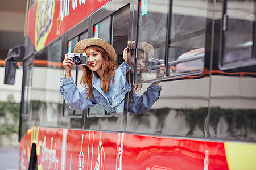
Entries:
{"label": "tan straw hat on the real woman's head, not the reflected one", "polygon": [[88,38],[77,42],[74,48],[74,53],[82,53],[86,47],[93,45],[104,48],[113,62],[117,60],[117,53],[115,53],[113,46],[99,38]]}

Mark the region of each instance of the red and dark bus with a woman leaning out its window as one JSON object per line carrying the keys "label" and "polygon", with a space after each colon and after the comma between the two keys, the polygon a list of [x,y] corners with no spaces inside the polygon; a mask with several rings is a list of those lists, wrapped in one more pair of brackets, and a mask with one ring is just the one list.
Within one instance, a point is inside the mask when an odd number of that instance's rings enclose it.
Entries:
{"label": "red and dark bus with a woman leaning out its window", "polygon": [[[19,169],[255,169],[255,5],[28,0]],[[146,113],[68,107],[60,94],[62,61],[88,37],[112,44],[117,65],[128,42],[153,46],[143,78],[126,75],[141,87],[138,95],[160,81],[159,99]],[[166,68],[160,77],[159,63]],[[138,50],[134,72],[137,66]],[[81,67],[71,73],[81,89]]]}

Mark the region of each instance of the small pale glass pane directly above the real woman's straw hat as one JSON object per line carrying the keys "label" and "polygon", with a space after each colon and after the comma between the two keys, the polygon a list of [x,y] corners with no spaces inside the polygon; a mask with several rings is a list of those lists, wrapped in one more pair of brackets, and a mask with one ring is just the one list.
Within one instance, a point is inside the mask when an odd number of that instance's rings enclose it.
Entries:
{"label": "small pale glass pane directly above the real woman's straw hat", "polygon": [[94,25],[93,37],[101,38],[109,42],[110,35],[110,16]]}

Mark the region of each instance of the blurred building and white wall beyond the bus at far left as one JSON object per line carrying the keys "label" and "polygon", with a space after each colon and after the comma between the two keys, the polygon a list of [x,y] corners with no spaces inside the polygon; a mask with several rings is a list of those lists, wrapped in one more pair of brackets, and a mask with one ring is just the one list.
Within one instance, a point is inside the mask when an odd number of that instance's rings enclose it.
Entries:
{"label": "blurred building and white wall beyond the bus at far left", "polygon": [[0,146],[18,146],[19,103],[22,69],[16,70],[14,85],[4,84],[8,50],[24,44],[25,0],[0,0]]}

